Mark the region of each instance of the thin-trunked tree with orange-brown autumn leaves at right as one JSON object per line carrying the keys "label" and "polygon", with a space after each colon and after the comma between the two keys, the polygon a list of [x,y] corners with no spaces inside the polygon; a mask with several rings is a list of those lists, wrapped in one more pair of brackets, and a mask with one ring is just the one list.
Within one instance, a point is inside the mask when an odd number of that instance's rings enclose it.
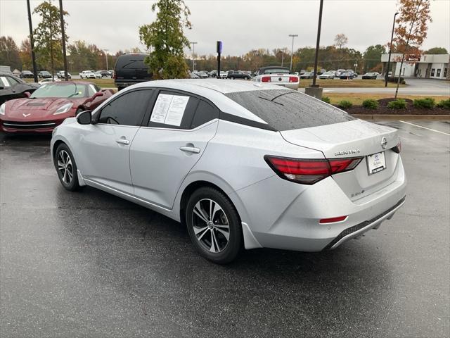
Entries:
{"label": "thin-trunked tree with orange-brown autumn leaves at right", "polygon": [[430,0],[399,0],[399,18],[395,20],[394,42],[401,52],[401,63],[399,77],[397,79],[397,89],[395,96],[399,92],[401,78],[401,68],[405,59],[405,54],[411,49],[419,49],[427,37],[428,23],[432,22],[430,15]]}

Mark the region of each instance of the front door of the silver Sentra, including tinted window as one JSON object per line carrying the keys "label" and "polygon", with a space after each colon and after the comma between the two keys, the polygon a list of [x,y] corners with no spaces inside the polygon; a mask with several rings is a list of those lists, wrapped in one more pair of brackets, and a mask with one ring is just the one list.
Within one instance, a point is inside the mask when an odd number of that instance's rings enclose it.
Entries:
{"label": "front door of the silver Sentra, including tinted window", "polygon": [[79,138],[77,162],[86,180],[133,193],[129,149],[152,94],[151,89],[127,91],[96,111],[94,124]]}

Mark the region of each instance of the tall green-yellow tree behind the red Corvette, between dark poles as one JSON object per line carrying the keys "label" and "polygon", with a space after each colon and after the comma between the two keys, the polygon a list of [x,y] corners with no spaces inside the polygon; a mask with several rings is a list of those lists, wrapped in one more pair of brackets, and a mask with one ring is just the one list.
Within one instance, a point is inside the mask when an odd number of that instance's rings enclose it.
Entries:
{"label": "tall green-yellow tree behind the red Corvette, between dark poles", "polygon": [[[50,0],[46,0],[34,8],[33,13],[41,16],[41,22],[33,32],[37,62],[45,68],[50,68],[51,73],[54,74],[55,67],[63,66],[59,8],[53,6]],[[64,11],[63,15],[69,15],[69,13]],[[66,20],[64,20],[64,25],[67,27]],[[65,39],[67,42],[67,35]]]}

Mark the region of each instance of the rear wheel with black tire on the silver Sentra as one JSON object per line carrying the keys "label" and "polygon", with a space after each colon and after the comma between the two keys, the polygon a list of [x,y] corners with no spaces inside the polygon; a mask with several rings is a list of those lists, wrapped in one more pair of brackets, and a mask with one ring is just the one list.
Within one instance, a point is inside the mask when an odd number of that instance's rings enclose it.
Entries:
{"label": "rear wheel with black tire on the silver Sentra", "polygon": [[224,193],[212,187],[193,192],[186,205],[186,225],[200,256],[214,263],[230,263],[243,247],[238,211]]}

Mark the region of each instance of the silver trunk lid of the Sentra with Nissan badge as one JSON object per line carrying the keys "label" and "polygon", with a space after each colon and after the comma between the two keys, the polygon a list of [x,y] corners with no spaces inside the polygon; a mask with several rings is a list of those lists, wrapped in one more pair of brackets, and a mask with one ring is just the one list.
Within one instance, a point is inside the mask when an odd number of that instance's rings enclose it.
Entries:
{"label": "silver trunk lid of the Sentra with Nissan badge", "polygon": [[[392,151],[392,148],[399,143],[399,137],[394,128],[364,120],[352,120],[286,130],[281,135],[287,142],[321,151],[329,159],[363,157],[354,170],[333,175],[335,182],[352,201],[382,189],[397,177],[399,154]],[[378,153],[385,157],[385,169],[369,174],[368,162],[371,160],[368,156]]]}

